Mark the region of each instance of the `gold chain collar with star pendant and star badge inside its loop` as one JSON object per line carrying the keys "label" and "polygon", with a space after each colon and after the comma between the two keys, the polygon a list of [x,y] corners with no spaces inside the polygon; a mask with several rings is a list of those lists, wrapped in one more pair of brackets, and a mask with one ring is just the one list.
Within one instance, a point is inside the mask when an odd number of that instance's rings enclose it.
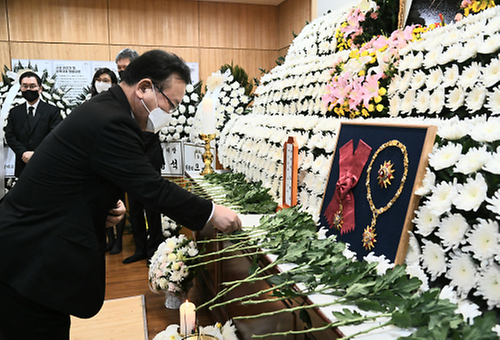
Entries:
{"label": "gold chain collar with star pendant and star badge inside its loop", "polygon": [[[401,184],[399,185],[399,188],[396,191],[396,194],[394,194],[394,196],[391,198],[389,203],[387,203],[387,205],[385,205],[382,208],[377,208],[375,206],[375,204],[373,203],[372,190],[371,190],[371,186],[370,186],[370,176],[371,176],[371,172],[372,172],[372,166],[373,166],[373,163],[375,162],[375,159],[377,159],[379,153],[382,150],[385,150],[386,148],[391,147],[391,146],[399,148],[399,150],[401,150],[401,152],[403,153],[403,166],[404,166],[403,176],[401,177]],[[387,163],[388,162],[385,161],[384,166],[386,166]],[[381,166],[381,168],[382,167],[383,166]],[[392,162],[391,162],[390,168],[388,166],[387,166],[387,168],[389,170],[392,170]],[[392,172],[394,172],[394,170],[392,170]],[[392,175],[392,172],[389,171],[388,173]],[[379,176],[377,177],[377,179],[379,180],[379,184],[380,184],[380,170],[378,172],[378,175]],[[377,217],[379,215],[383,214],[384,212],[386,212],[387,210],[389,210],[394,205],[396,200],[401,195],[401,192],[403,192],[403,187],[405,185],[407,175],[408,175],[408,152],[406,150],[406,146],[403,143],[401,143],[400,141],[398,141],[396,139],[388,141],[387,143],[382,144],[380,146],[380,148],[378,148],[378,150],[373,154],[372,160],[370,161],[370,165],[368,165],[368,168],[366,169],[366,183],[365,183],[366,184],[366,199],[368,200],[368,205],[370,206],[370,210],[372,211],[372,223],[369,226],[367,226],[363,232],[362,242],[363,242],[363,247],[366,250],[371,250],[372,248],[375,247],[375,242],[377,242],[377,240],[376,240],[377,234],[375,233],[375,225],[377,224]],[[391,178],[391,179],[393,179],[393,178]]]}

